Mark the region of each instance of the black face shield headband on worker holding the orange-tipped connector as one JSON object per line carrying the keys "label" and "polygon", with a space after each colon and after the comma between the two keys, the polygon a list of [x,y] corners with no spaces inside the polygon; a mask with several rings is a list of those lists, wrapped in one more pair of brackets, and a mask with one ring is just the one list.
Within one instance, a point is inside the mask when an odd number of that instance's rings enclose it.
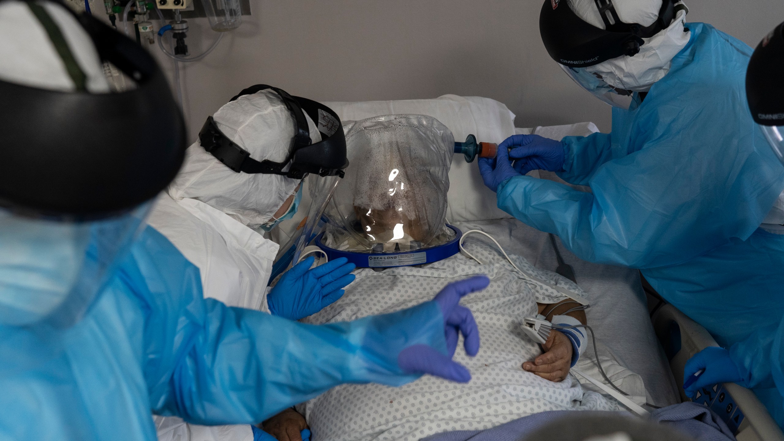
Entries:
{"label": "black face shield headband on worker holding the orange-tipped connector", "polygon": [[594,1],[606,30],[577,16],[567,0],[545,0],[539,14],[539,33],[553,60],[568,67],[588,67],[623,55],[634,56],[640,52],[643,38],[669,27],[681,9],[681,5],[674,5],[677,0],[663,0],[655,22],[642,26],[623,23],[612,0]]}

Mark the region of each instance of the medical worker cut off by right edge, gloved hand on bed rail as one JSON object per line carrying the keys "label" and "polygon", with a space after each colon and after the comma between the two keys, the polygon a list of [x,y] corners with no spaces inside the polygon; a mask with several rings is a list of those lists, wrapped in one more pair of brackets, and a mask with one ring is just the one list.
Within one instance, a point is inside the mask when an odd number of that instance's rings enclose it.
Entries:
{"label": "medical worker cut off by right edge, gloved hand on bed rail", "polygon": [[[746,93],[754,121],[784,163],[784,23],[766,35],[754,50],[746,71]],[[772,296],[784,286],[771,286]],[[764,308],[764,304],[758,305]],[[717,383],[735,382],[753,388],[779,426],[784,428],[784,317],[781,322],[756,326],[750,337],[729,349],[705,348],[688,360],[684,378],[698,374],[688,395]],[[699,371],[703,370],[702,374]]]}

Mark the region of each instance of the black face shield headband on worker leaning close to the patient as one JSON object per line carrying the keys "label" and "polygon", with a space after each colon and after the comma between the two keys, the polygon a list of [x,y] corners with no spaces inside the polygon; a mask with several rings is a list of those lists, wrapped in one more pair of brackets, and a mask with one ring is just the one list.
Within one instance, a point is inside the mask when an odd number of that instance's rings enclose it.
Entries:
{"label": "black face shield headband on worker leaning close to the patient", "polygon": [[[234,101],[242,95],[250,95],[265,89],[274,90],[281,96],[283,104],[289,109],[296,122],[294,145],[285,161],[264,160],[259,162],[252,159],[249,151],[234,144],[218,129],[212,116],[207,118],[198,135],[201,147],[237,173],[279,174],[292,179],[303,179],[308,173],[315,173],[322,177],[343,177],[343,169],[348,166],[348,159],[346,137],[339,116],[324,104],[303,97],[292,97],[283,89],[264,84],[244,89],[231,100]],[[305,113],[319,127],[325,127],[326,133],[321,132],[321,142],[310,144],[310,132]],[[286,169],[287,166],[288,169]]]}

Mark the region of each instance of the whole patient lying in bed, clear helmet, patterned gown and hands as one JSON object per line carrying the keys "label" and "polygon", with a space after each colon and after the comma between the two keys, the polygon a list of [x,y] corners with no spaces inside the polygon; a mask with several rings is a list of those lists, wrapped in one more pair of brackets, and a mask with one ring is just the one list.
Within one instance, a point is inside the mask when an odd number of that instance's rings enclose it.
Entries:
{"label": "whole patient lying in bed, clear helmet, patterned gown and hands", "polygon": [[[441,240],[454,146],[448,129],[421,115],[370,118],[344,127],[350,127],[346,139],[351,166],[332,199],[336,213],[327,213],[343,224],[328,227],[325,242],[339,250],[358,246],[377,252],[413,250]],[[340,231],[348,232],[341,236]],[[458,253],[420,268],[359,269],[343,297],[305,320],[335,323],[395,312],[432,298],[449,282],[488,275],[488,288],[461,301],[474,313],[481,338],[476,357],[467,356],[460,344],[455,354],[470,370],[471,381],[459,384],[424,376],[399,388],[332,388],[297,406],[314,441],[408,441],[437,432],[490,428],[545,410],[618,409],[614,401],[584,390],[569,374],[574,349],[565,333],[553,331],[540,347],[520,328],[525,316],[537,313],[547,319],[559,315],[556,323],[585,324],[583,311],[568,312],[579,304],[570,302],[567,294],[582,295],[579,287],[511,256],[517,271],[479,235],[467,237],[463,246],[477,260]],[[568,317],[560,316],[566,313]],[[582,352],[584,339],[578,345]],[[305,427],[294,410],[263,424],[265,431],[290,441],[298,441]]]}

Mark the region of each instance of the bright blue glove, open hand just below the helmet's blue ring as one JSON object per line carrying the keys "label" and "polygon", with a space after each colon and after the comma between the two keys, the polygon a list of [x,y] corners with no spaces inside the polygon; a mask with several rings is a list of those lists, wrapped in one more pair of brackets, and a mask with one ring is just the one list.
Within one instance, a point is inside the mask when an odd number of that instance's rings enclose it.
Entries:
{"label": "bright blue glove, open hand just below the helmet's blue ring", "polygon": [[342,297],[345,291],[341,288],[354,282],[351,272],[356,265],[347,263],[346,257],[309,269],[313,261],[310,256],[281,275],[267,294],[272,315],[299,320],[315,314]]}

